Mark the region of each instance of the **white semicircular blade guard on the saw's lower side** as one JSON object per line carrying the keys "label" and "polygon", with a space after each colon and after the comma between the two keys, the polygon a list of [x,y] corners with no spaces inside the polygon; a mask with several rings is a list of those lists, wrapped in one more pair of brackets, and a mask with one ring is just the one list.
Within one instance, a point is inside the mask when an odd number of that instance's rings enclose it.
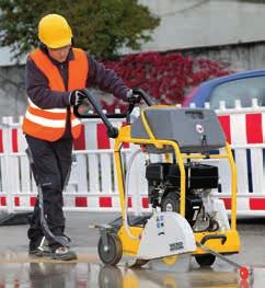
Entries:
{"label": "white semicircular blade guard on the saw's lower side", "polygon": [[158,212],[145,226],[137,258],[159,258],[195,250],[194,233],[187,220],[173,211]]}

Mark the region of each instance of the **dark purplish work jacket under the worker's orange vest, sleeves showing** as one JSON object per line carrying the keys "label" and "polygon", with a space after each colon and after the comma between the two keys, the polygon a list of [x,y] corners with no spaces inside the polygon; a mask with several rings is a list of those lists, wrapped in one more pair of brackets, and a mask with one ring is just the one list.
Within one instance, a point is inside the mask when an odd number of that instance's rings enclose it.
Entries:
{"label": "dark purplish work jacket under the worker's orange vest, sleeves showing", "polygon": [[[45,47],[41,46],[41,49],[49,57]],[[129,91],[129,88],[124,84],[123,80],[116,74],[116,72],[106,69],[103,64],[93,59],[89,54],[87,54],[87,56],[89,62],[87,88],[99,88],[104,92],[112,93],[116,97],[126,100],[126,94]],[[73,57],[74,56],[71,49],[68,54],[67,60],[62,64],[49,57],[51,62],[58,68],[64,79],[66,90],[68,90],[68,64],[71,59],[73,59]],[[48,79],[37,68],[31,57],[27,57],[25,66],[25,88],[27,96],[31,99],[31,101],[43,110],[64,107],[68,107],[69,110],[70,107],[70,91],[51,91],[48,87]],[[71,137],[69,124],[70,122],[68,119],[66,133],[62,138]]]}

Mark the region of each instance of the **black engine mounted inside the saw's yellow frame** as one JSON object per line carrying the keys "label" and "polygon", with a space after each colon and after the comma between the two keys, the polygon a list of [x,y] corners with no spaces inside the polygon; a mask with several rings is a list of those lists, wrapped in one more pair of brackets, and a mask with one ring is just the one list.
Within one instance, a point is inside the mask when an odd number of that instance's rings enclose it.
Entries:
{"label": "black engine mounted inside the saw's yellow frame", "polygon": [[[198,162],[185,164],[185,218],[194,232],[217,231],[215,215],[206,209],[204,198],[218,187],[218,168]],[[180,212],[181,173],[177,164],[150,163],[146,169],[148,197],[153,208]]]}

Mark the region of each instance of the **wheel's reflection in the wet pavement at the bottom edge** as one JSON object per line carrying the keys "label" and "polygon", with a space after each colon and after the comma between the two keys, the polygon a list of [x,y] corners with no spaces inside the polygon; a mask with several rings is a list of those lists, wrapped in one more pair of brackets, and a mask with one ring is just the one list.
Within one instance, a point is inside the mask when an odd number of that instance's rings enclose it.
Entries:
{"label": "wheel's reflection in the wet pavement at the bottom edge", "polygon": [[123,273],[115,266],[103,266],[99,274],[100,288],[123,288]]}

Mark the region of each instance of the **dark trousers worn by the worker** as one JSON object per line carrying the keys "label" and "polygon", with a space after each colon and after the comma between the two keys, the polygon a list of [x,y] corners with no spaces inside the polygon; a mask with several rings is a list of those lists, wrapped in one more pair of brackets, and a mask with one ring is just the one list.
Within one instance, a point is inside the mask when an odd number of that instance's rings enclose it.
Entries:
{"label": "dark trousers worn by the worker", "polygon": [[[36,177],[42,187],[47,224],[55,235],[62,235],[65,231],[62,189],[71,168],[72,139],[62,138],[50,142],[26,135],[26,141],[34,160]],[[37,199],[27,231],[30,245],[38,245],[43,235]]]}

